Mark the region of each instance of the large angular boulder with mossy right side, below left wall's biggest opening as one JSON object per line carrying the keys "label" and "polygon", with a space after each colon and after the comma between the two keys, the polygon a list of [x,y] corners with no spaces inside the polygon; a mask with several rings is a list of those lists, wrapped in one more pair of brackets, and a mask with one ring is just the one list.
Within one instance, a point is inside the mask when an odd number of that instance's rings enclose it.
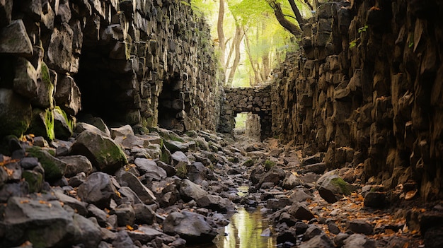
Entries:
{"label": "large angular boulder with mossy right side, below left wall's biggest opening", "polygon": [[103,172],[115,172],[127,165],[127,158],[120,146],[112,139],[93,131],[85,130],[71,146],[71,155],[85,155]]}

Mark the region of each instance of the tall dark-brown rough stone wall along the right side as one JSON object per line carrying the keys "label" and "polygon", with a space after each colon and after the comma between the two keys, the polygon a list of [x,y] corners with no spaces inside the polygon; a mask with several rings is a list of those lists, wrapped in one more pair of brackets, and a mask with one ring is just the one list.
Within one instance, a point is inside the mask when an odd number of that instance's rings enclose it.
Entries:
{"label": "tall dark-brown rough stone wall along the right side", "polygon": [[[352,4],[351,4],[352,3]],[[272,88],[272,131],[330,167],[442,199],[443,3],[328,1]]]}

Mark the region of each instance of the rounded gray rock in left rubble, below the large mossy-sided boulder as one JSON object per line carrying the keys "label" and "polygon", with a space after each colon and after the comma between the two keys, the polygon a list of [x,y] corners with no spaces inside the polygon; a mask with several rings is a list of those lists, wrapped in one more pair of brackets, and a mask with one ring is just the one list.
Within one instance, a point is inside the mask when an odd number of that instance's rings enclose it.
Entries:
{"label": "rounded gray rock in left rubble, below the large mossy-sided boulder", "polygon": [[93,203],[100,208],[109,208],[110,199],[115,195],[115,191],[108,174],[93,172],[86,178],[86,182],[79,186],[77,195],[81,201]]}

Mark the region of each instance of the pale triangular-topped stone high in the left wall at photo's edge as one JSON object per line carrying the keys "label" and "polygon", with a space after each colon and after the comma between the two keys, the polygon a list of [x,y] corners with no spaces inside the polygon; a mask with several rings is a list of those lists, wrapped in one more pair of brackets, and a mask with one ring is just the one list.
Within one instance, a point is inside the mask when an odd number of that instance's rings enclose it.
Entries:
{"label": "pale triangular-topped stone high in the left wall at photo's edge", "polygon": [[33,44],[26,33],[23,20],[12,20],[9,25],[1,29],[0,53],[18,54],[25,57],[33,55]]}

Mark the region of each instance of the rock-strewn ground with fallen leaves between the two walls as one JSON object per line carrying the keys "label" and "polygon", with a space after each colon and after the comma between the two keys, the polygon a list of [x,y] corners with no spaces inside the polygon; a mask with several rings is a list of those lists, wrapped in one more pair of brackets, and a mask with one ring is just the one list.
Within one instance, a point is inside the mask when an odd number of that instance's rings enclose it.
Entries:
{"label": "rock-strewn ground with fallen leaves between the two walls", "polygon": [[443,204],[420,204],[415,184],[363,184],[362,170],[275,139],[90,123],[69,141],[8,138],[0,247],[185,247],[211,242],[238,206],[265,209],[280,247],[443,244]]}

